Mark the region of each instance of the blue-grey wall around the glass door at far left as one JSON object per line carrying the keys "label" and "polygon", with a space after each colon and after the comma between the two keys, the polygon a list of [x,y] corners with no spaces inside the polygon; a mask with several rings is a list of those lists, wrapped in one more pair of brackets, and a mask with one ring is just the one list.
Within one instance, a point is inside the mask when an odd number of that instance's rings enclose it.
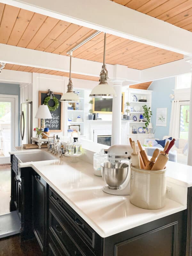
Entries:
{"label": "blue-grey wall around the glass door at far left", "polygon": [[[0,94],[18,95],[18,113],[20,113],[20,86],[19,84],[4,84],[0,83]],[[18,115],[18,120],[20,115]],[[19,127],[18,127],[19,132]],[[18,143],[20,145],[20,134]]]}

